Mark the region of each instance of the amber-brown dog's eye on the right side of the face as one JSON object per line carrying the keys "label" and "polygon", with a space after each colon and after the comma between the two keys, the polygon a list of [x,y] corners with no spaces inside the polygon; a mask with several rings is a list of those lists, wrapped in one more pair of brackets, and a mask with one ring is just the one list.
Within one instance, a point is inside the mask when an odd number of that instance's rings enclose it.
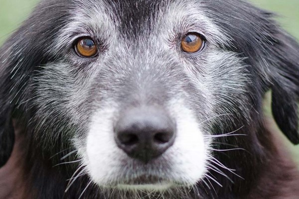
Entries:
{"label": "amber-brown dog's eye on the right side of the face", "polygon": [[186,53],[196,53],[204,47],[204,40],[200,34],[188,33],[181,41],[181,48]]}

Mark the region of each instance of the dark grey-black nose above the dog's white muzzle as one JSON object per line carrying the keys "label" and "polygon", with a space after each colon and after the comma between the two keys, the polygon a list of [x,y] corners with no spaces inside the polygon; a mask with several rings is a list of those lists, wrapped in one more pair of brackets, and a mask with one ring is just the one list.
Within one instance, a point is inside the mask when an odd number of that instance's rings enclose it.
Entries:
{"label": "dark grey-black nose above the dog's white muzzle", "polygon": [[115,125],[115,140],[130,157],[148,163],[175,139],[175,122],[156,107],[126,110]]}

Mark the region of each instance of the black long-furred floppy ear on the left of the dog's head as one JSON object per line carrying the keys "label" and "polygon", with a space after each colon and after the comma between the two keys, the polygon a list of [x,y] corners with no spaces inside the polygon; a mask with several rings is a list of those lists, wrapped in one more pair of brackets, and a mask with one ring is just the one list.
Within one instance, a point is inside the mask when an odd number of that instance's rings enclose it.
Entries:
{"label": "black long-furred floppy ear on the left of the dog's head", "polygon": [[68,6],[67,0],[40,1],[0,48],[0,167],[7,162],[14,144],[12,117],[30,117],[30,79],[35,67],[57,59],[57,54],[47,53],[47,48],[69,22],[71,13],[65,12],[70,10]]}

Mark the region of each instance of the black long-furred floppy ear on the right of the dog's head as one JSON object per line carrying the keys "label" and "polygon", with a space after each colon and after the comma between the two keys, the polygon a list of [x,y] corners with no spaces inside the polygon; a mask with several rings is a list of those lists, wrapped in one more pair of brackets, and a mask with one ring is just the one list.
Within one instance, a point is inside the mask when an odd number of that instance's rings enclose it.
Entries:
{"label": "black long-furred floppy ear on the right of the dog's head", "polygon": [[[261,83],[257,90],[272,89],[274,118],[290,141],[299,144],[299,44],[280,29],[274,14],[247,1],[233,6],[230,1],[204,4],[211,16],[217,16],[219,27],[231,35],[233,45],[226,48],[240,53],[253,66],[249,70]],[[215,15],[219,12],[223,17]]]}

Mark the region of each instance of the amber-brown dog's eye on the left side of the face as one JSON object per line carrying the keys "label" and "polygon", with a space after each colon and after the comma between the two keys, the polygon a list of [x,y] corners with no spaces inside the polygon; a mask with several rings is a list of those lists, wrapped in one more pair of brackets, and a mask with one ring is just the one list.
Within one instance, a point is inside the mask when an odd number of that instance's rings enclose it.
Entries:
{"label": "amber-brown dog's eye on the left side of the face", "polygon": [[98,52],[95,42],[88,37],[79,39],[75,49],[77,54],[82,57],[94,57]]}

